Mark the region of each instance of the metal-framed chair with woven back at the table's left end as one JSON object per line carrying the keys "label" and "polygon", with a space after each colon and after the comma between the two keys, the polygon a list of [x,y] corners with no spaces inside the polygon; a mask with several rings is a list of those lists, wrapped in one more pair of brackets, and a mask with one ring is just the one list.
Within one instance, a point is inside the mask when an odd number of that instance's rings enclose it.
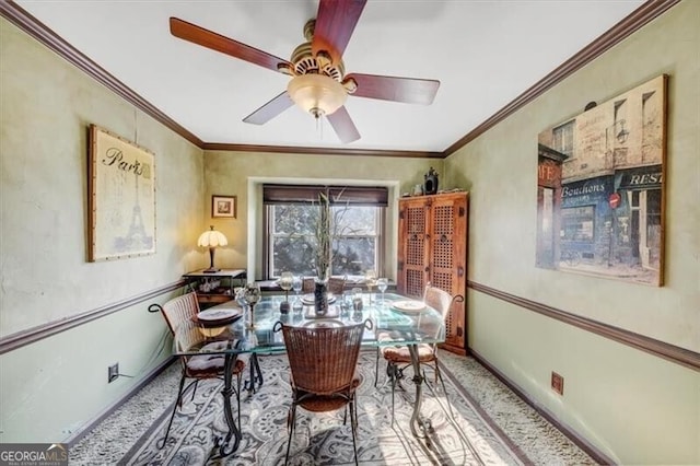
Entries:
{"label": "metal-framed chair with woven back at the table's left end", "polygon": [[[165,436],[158,442],[158,446],[162,448],[167,442],[167,438],[173,426],[173,419],[177,408],[183,406],[183,394],[192,386],[192,396],[197,392],[197,383],[203,378],[221,378],[224,377],[225,369],[225,356],[221,352],[228,349],[231,345],[230,340],[212,340],[207,338],[205,333],[200,331],[201,328],[194,322],[192,317],[199,313],[199,304],[197,301],[197,294],[189,292],[182,296],[174,298],[163,304],[151,304],[149,306],[150,312],[160,311],[167,327],[170,328],[173,337],[175,338],[175,346],[179,351],[188,351],[191,349],[200,349],[200,351],[212,351],[211,354],[196,354],[196,356],[182,356],[179,362],[183,369],[183,374],[179,380],[179,388],[177,391],[177,403],[173,407],[171,419],[167,423]],[[233,394],[236,397],[236,406],[238,411],[238,427],[241,431],[241,375],[245,369],[245,362],[236,359],[231,368],[231,376],[235,377],[235,384],[233,386]],[[190,378],[191,381],[185,387],[185,381]],[[236,440],[237,441],[237,440]]]}

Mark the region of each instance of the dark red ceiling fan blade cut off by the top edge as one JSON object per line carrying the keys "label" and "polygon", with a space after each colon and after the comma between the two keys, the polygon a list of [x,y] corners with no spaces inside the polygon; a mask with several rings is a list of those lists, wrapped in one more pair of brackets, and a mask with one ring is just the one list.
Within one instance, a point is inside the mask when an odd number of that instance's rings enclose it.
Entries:
{"label": "dark red ceiling fan blade cut off by the top edge", "polygon": [[312,50],[326,50],[334,63],[340,61],[360,20],[366,0],[320,0]]}

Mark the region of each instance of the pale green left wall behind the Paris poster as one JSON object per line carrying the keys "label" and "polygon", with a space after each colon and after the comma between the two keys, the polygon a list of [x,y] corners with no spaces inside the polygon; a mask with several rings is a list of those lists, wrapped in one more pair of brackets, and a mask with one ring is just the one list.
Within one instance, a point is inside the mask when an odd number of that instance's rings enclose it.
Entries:
{"label": "pale green left wall behind the Paris poster", "polygon": [[[88,126],[155,153],[156,254],[88,263]],[[0,336],[205,266],[202,151],[0,19]],[[58,442],[170,356],[152,301],[0,356],[0,442]],[[107,384],[107,365],[120,377]]]}

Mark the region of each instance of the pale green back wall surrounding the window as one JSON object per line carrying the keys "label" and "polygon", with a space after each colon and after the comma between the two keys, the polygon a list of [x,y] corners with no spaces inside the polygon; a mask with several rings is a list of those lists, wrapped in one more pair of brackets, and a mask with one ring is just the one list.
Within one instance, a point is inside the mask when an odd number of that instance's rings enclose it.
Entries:
{"label": "pale green back wall surrounding the window", "polygon": [[[217,194],[234,195],[238,201],[236,220],[218,219],[213,223],[230,243],[230,247],[217,252],[217,257],[221,254],[229,264],[246,268],[250,277],[262,278],[262,183],[384,185],[389,187],[384,275],[395,278],[397,199],[401,194],[409,193],[411,186],[422,184],[423,175],[431,166],[442,174],[443,161],[440,159],[207,151],[205,185],[208,198]],[[440,184],[440,189],[453,187],[456,186]]]}

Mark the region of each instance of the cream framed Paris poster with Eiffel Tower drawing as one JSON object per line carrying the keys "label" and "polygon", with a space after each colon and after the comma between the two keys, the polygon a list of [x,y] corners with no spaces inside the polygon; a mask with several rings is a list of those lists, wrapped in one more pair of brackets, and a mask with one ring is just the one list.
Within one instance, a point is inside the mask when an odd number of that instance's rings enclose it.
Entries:
{"label": "cream framed Paris poster with Eiffel Tower drawing", "polygon": [[88,259],[154,254],[154,154],[91,125],[88,179]]}

